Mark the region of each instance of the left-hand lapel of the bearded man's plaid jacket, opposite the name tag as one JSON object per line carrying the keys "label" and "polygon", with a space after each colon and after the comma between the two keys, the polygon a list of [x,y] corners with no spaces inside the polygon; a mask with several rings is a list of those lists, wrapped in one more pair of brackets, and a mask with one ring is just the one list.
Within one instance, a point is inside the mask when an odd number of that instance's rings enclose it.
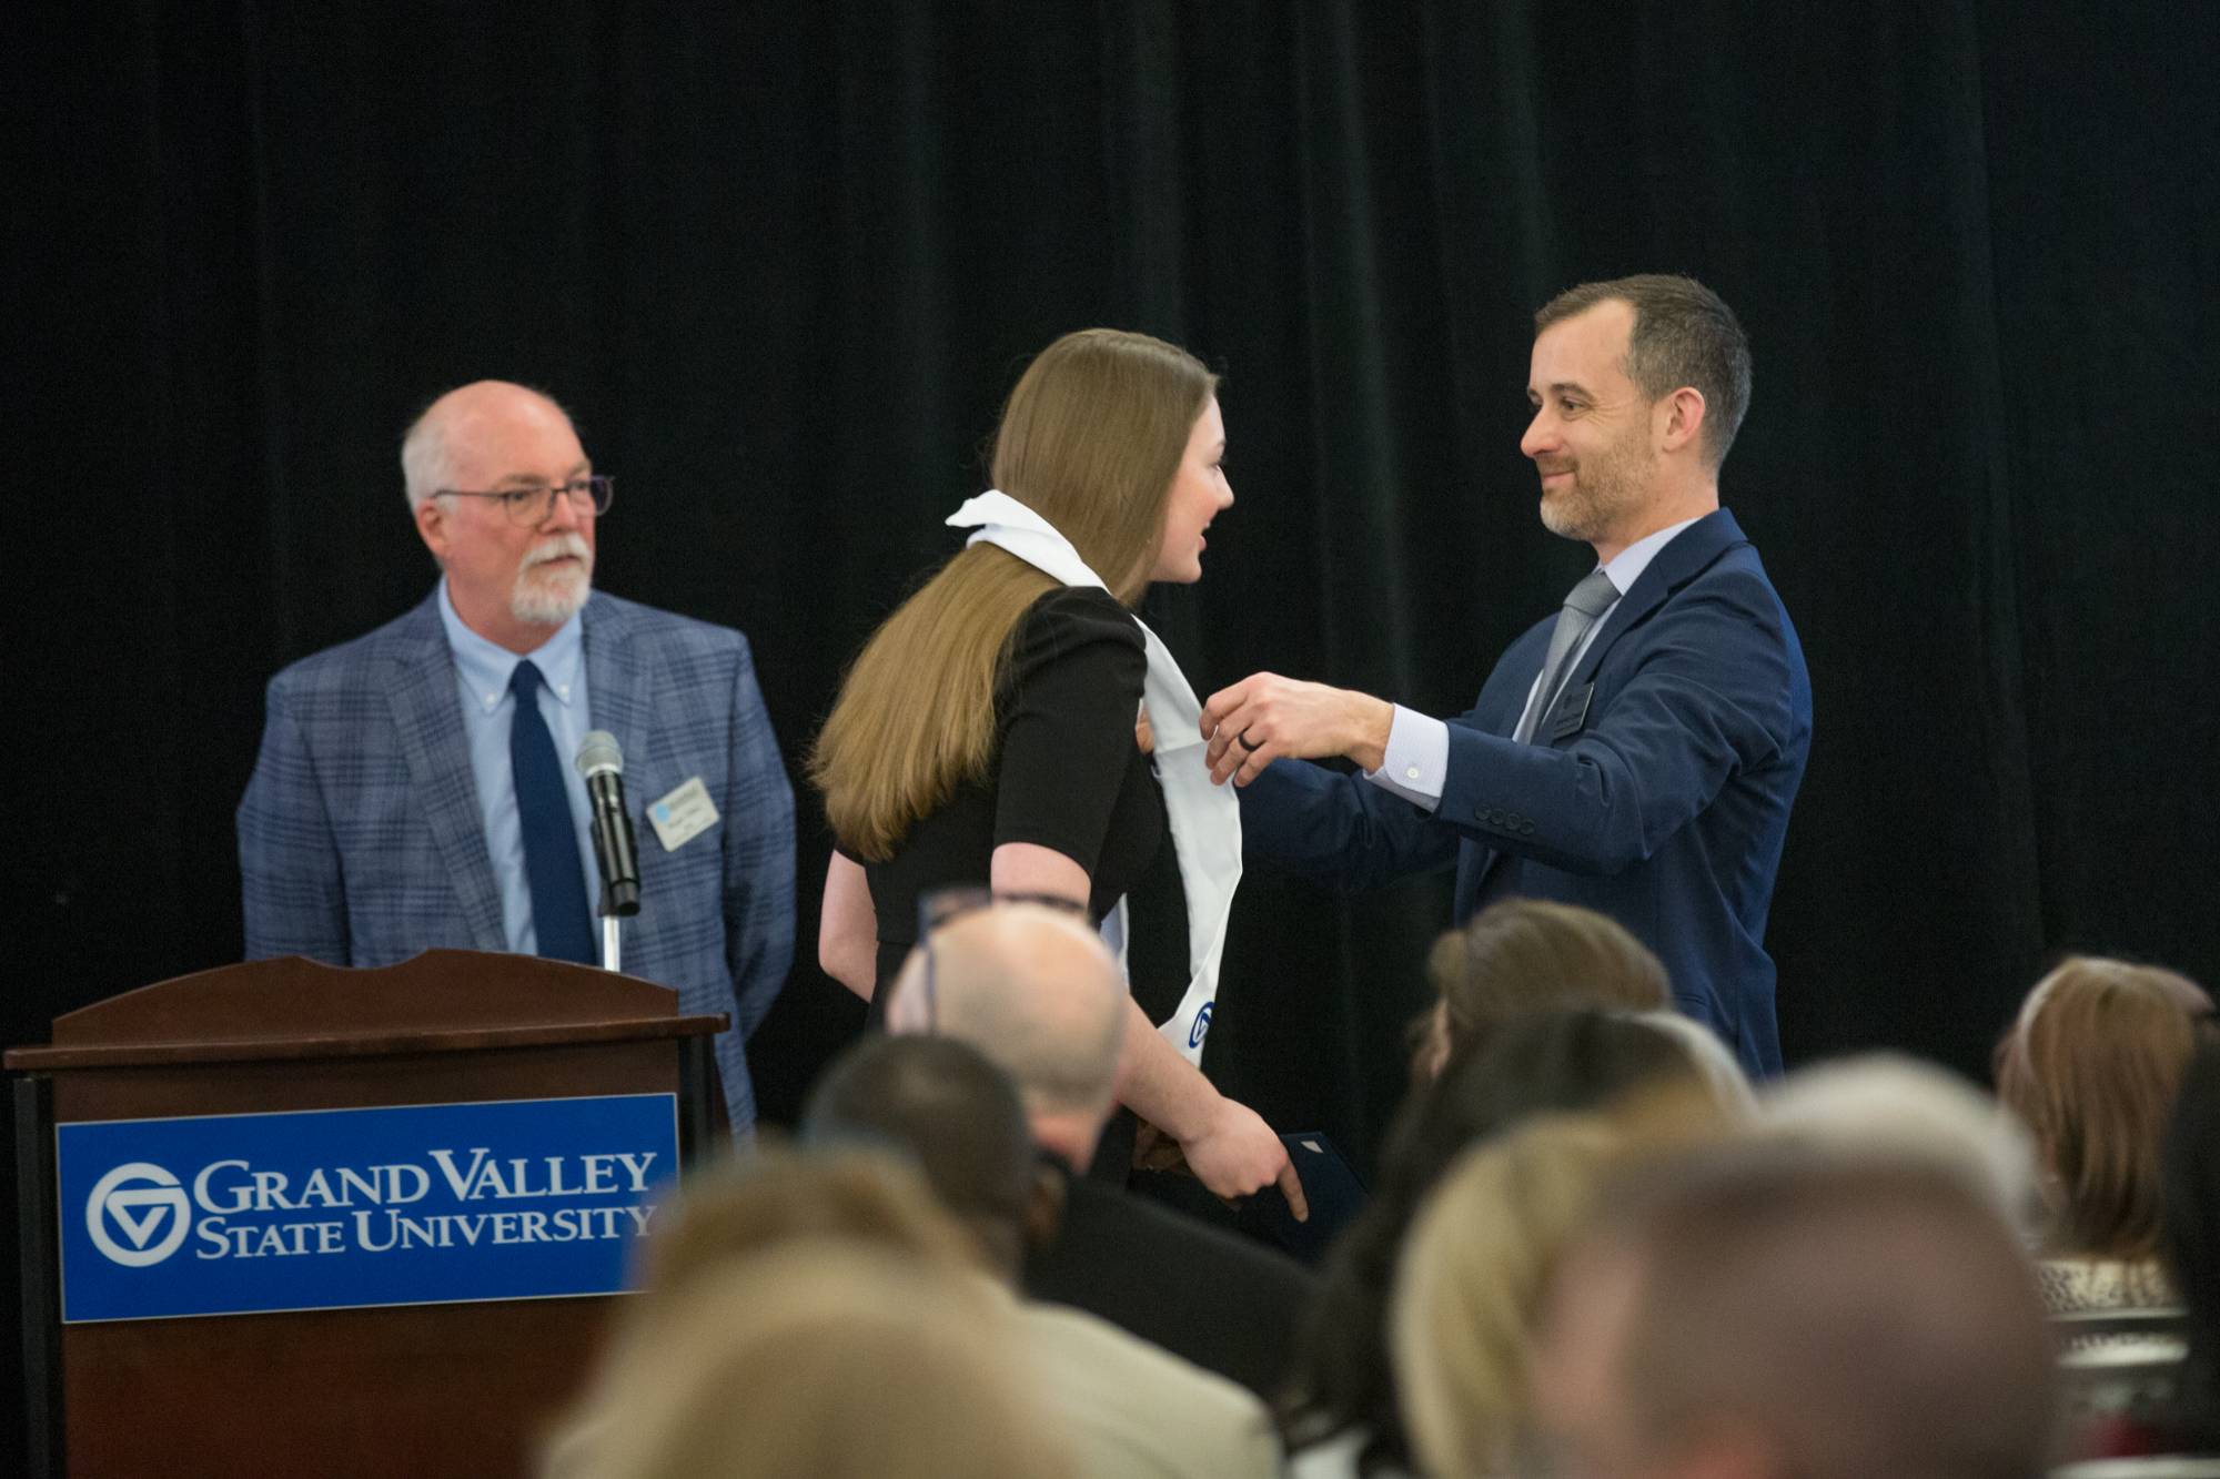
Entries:
{"label": "left-hand lapel of the bearded man's plaid jacket, opposite the name tag", "polygon": [[393,633],[384,660],[391,664],[386,700],[393,728],[424,822],[440,846],[440,862],[455,884],[455,902],[480,950],[506,950],[502,895],[493,884],[486,853],[486,819],[471,779],[471,744],[462,733],[462,697],[455,693],[455,660],[440,626],[437,591]]}

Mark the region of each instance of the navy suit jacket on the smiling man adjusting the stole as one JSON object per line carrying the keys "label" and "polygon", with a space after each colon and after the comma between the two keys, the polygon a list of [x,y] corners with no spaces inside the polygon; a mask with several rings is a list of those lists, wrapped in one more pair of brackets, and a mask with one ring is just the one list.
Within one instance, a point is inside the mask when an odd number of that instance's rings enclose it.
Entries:
{"label": "navy suit jacket on the smiling man adjusting the stole", "polygon": [[1248,853],[1354,886],[1454,862],[1459,924],[1514,895],[1594,908],[1658,953],[1681,1010],[1749,1073],[1780,1073],[1765,915],[1812,680],[1756,549],[1725,509],[1669,540],[1518,744],[1554,624],[1518,637],[1450,720],[1432,813],[1283,759],[1243,791]]}

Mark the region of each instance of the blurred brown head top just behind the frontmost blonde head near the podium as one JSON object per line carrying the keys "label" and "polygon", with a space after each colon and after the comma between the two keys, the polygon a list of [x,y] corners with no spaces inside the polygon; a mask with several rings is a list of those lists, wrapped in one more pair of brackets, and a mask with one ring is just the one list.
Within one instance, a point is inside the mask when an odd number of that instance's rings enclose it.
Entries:
{"label": "blurred brown head top just behind the frontmost blonde head near the podium", "polygon": [[786,1244],[855,1241],[946,1268],[981,1268],[981,1248],[915,1166],[848,1148],[750,1150],[686,1179],[642,1241],[650,1299]]}

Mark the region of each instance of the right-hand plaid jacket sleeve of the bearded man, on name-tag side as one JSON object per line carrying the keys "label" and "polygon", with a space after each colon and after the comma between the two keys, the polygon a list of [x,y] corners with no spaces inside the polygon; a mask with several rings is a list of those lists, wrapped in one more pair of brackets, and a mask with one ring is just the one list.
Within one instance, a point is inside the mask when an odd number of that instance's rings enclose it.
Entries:
{"label": "right-hand plaid jacket sleeve of the bearded man, on name-tag side", "polygon": [[733,1026],[746,1037],[786,986],[795,959],[795,793],[770,713],[739,637],[733,680],[733,764],[724,811],[724,948],[733,968]]}

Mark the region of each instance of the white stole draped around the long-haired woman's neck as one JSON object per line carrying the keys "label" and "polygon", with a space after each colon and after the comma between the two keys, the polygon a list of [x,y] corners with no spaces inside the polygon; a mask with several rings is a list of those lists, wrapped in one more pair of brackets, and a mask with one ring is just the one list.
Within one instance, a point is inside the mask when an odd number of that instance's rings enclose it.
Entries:
{"label": "white stole draped around the long-haired woman's neck", "polygon": [[[972,529],[968,544],[997,544],[1043,575],[1066,586],[1103,586],[1072,542],[1054,524],[1008,493],[981,493],[948,515],[955,529]],[[1132,615],[1132,613],[1128,613]],[[1179,855],[1179,882],[1188,895],[1188,995],[1170,1022],[1157,1026],[1166,1042],[1190,1064],[1203,1062],[1203,1037],[1219,995],[1219,957],[1225,953],[1225,922],[1241,884],[1241,802],[1232,786],[1212,786],[1203,764],[1203,704],[1188,686],[1188,675],[1172,662],[1172,648],[1132,617],[1148,644],[1148,677],[1141,693],[1148,700],[1148,722],[1157,733],[1157,784],[1163,788],[1163,811],[1172,824],[1172,851]],[[1119,899],[1123,913],[1126,899]],[[1119,950],[1123,962],[1123,950]]]}

